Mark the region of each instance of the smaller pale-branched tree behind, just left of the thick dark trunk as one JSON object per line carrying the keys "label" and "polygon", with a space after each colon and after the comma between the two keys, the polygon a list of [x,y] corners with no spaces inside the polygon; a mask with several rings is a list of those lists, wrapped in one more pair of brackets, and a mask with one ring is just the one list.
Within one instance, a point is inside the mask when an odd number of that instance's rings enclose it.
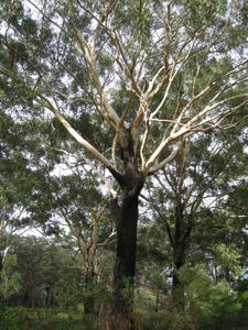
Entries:
{"label": "smaller pale-branched tree behind, just left of the thick dark trunk", "polygon": [[82,163],[75,164],[73,155],[69,160],[62,155],[60,164],[63,172],[60,175],[55,174],[56,170],[44,174],[36,186],[40,196],[32,200],[28,210],[44,233],[68,237],[74,241],[72,250],[77,251],[82,258],[78,270],[86,292],[85,314],[93,314],[96,287],[101,279],[99,260],[104,249],[116,241],[116,230],[114,221],[107,217],[107,200],[99,187],[96,188],[97,180],[91,169],[82,168]]}

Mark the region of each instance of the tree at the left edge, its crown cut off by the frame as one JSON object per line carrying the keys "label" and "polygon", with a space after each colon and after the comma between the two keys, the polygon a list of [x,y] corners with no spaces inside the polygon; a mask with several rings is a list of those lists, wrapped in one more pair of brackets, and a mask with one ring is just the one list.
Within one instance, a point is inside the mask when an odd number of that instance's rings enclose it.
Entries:
{"label": "tree at the left edge, its crown cut off by the frame", "polygon": [[21,234],[30,224],[26,206],[36,178],[29,164],[25,139],[22,125],[0,109],[0,271],[12,235]]}

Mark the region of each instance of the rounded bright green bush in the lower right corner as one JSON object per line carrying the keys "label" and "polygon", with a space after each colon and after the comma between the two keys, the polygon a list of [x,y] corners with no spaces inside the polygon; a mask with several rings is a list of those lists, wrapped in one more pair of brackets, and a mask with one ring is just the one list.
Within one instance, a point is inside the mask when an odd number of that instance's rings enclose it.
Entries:
{"label": "rounded bright green bush in the lower right corner", "polygon": [[201,264],[182,267],[180,278],[186,286],[186,311],[195,318],[196,329],[231,329],[235,326],[241,304],[227,282],[213,282]]}

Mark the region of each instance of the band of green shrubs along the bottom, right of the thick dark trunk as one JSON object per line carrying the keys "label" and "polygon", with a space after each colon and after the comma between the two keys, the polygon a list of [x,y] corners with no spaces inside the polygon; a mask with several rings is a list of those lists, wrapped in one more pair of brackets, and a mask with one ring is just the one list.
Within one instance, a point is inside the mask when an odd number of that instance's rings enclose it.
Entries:
{"label": "band of green shrubs along the bottom, right of the thick dark trunk", "polygon": [[[246,329],[247,285],[230,289],[226,280],[214,282],[205,265],[185,265],[180,270],[180,279],[185,285],[185,309],[179,310],[168,297],[154,312],[154,301],[149,301],[149,293],[142,292],[137,305],[138,329],[158,330],[231,330]],[[151,295],[151,293],[150,293]]]}

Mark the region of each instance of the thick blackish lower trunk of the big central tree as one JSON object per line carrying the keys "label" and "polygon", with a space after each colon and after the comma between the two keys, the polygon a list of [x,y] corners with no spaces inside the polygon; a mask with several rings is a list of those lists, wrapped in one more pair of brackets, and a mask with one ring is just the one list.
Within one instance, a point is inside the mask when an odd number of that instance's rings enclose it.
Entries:
{"label": "thick blackish lower trunk of the big central tree", "polygon": [[[130,168],[129,168],[130,169]],[[110,329],[133,328],[133,285],[136,275],[138,198],[143,179],[137,170],[126,172],[122,182],[121,205],[111,202],[117,224],[117,252],[114,272],[114,308]]]}

